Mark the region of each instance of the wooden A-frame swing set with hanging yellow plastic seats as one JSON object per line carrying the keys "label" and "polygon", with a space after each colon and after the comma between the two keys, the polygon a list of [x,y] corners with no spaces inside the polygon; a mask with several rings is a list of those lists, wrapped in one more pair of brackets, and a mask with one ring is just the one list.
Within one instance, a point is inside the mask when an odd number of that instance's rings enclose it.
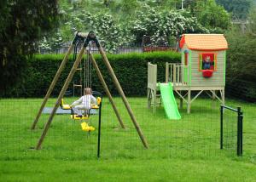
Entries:
{"label": "wooden A-frame swing set with hanging yellow plastic seats", "polygon": [[[133,114],[133,111],[131,110],[131,106],[130,106],[128,100],[125,97],[124,91],[121,88],[121,86],[119,84],[119,81],[118,81],[117,77],[114,74],[113,68],[110,65],[109,61],[108,61],[108,57],[105,54],[101,44],[99,43],[99,41],[98,41],[94,31],[90,31],[88,34],[87,33],[83,33],[83,32],[77,32],[76,33],[76,35],[75,35],[75,37],[73,39],[72,44],[70,45],[70,47],[67,50],[67,54],[65,55],[64,59],[62,60],[61,65],[60,65],[58,71],[56,72],[53,81],[51,82],[51,84],[49,86],[47,94],[44,96],[44,100],[43,100],[42,105],[41,105],[41,107],[40,107],[40,109],[38,111],[37,117],[35,118],[34,122],[32,122],[31,129],[35,129],[36,128],[36,125],[38,123],[38,119],[41,116],[42,111],[44,110],[44,106],[46,105],[46,102],[49,99],[49,96],[52,93],[52,90],[55,88],[55,83],[59,79],[59,77],[61,75],[61,71],[63,71],[63,69],[64,69],[64,66],[67,64],[68,57],[72,53],[73,48],[76,48],[77,45],[79,43],[81,43],[81,42],[83,42],[83,46],[80,49],[78,56],[76,54],[74,54],[75,61],[73,63],[73,67],[72,67],[71,71],[69,72],[69,74],[67,76],[66,82],[64,83],[63,87],[61,88],[61,92],[60,92],[57,100],[55,101],[55,105],[54,105],[54,107],[53,107],[53,109],[52,109],[52,111],[51,111],[51,113],[49,115],[48,122],[46,122],[45,125],[44,125],[44,130],[43,130],[43,133],[41,134],[40,139],[38,139],[38,144],[36,146],[36,149],[39,150],[41,148],[41,145],[44,142],[44,138],[45,138],[45,136],[46,136],[46,134],[47,134],[47,132],[49,130],[49,126],[50,126],[53,118],[55,117],[55,112],[57,111],[59,105],[61,105],[62,109],[71,109],[71,111],[72,111],[72,108],[70,107],[70,105],[65,105],[64,104],[63,96],[66,93],[68,85],[72,81],[75,72],[78,70],[78,67],[79,67],[79,64],[80,64],[80,62],[82,60],[84,52],[86,51],[86,48],[90,45],[90,43],[95,43],[96,44],[96,47],[98,48],[100,54],[102,55],[102,60],[103,60],[104,64],[107,66],[107,68],[108,68],[108,73],[112,77],[113,83],[114,83],[115,87],[117,88],[117,90],[118,90],[118,92],[119,92],[119,94],[120,94],[120,96],[121,96],[121,98],[122,98],[122,100],[123,100],[123,102],[125,104],[125,108],[128,111],[129,116],[131,117],[131,122],[133,123],[134,127],[137,130],[137,134],[139,135],[139,137],[140,137],[140,139],[141,139],[141,141],[143,143],[143,146],[145,148],[148,148],[148,142],[145,139],[139,124],[137,123],[137,119],[135,118],[135,116]],[[87,61],[84,60],[86,62],[86,64],[84,64],[84,66],[85,65],[88,66],[87,70],[84,71],[85,72],[84,75],[87,74],[87,76],[86,76],[87,79],[84,79],[84,80],[89,81],[89,82],[85,83],[85,86],[86,87],[87,86],[88,87],[91,86],[91,82],[90,82],[90,80],[91,80],[91,72],[90,72],[91,70],[90,70],[90,67],[91,66],[90,66],[90,61],[89,60],[91,61],[91,65],[93,65],[94,69],[96,70],[96,74],[97,74],[100,82],[102,83],[102,87],[104,88],[104,91],[105,91],[105,93],[108,96],[108,100],[110,101],[110,103],[111,103],[111,105],[113,107],[113,111],[114,111],[116,117],[118,118],[118,121],[119,121],[119,124],[120,124],[121,128],[125,129],[124,122],[122,121],[122,119],[121,119],[121,117],[119,115],[119,111],[117,110],[117,107],[116,107],[116,105],[115,105],[115,103],[113,101],[113,97],[112,97],[112,95],[109,92],[107,83],[105,82],[104,78],[102,77],[102,72],[100,71],[100,69],[99,69],[99,67],[98,67],[98,65],[96,63],[96,60],[93,57],[93,54],[91,54],[90,50],[87,51]],[[102,97],[98,97],[97,98],[97,105],[92,106],[92,109],[99,109],[98,134],[100,135],[100,133],[101,133],[100,130],[101,130]],[[87,116],[86,118],[85,117],[84,118],[79,118],[79,119],[88,119],[89,117],[90,116]],[[75,118],[75,117],[73,116],[73,118]],[[87,130],[92,131],[92,130],[94,130],[94,128],[91,128],[86,122],[85,123],[83,122],[81,124],[81,127],[82,127],[82,129],[84,131],[87,131]],[[100,138],[98,137],[98,140],[99,139]],[[98,156],[99,156],[99,141],[98,141]]]}

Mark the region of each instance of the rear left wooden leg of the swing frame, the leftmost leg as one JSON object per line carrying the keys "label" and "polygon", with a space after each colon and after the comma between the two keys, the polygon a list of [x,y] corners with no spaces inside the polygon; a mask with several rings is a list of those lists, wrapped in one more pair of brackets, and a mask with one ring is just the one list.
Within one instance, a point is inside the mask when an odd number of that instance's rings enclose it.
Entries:
{"label": "rear left wooden leg of the swing frame, the leftmost leg", "polygon": [[37,125],[37,123],[38,123],[38,119],[39,119],[39,117],[41,116],[42,111],[44,110],[44,106],[46,105],[46,102],[47,102],[47,100],[49,99],[49,95],[52,93],[52,90],[53,90],[53,88],[55,87],[56,82],[58,81],[59,77],[61,76],[61,71],[64,69],[64,66],[67,64],[68,56],[69,56],[69,54],[71,54],[71,52],[72,52],[74,46],[75,46],[75,45],[72,44],[72,45],[68,48],[67,54],[65,55],[64,59],[62,60],[61,65],[60,65],[58,71],[56,72],[56,75],[55,75],[53,81],[50,83],[50,86],[49,86],[49,89],[48,89],[48,91],[47,91],[47,94],[44,96],[43,103],[42,103],[42,105],[41,105],[41,107],[40,107],[40,109],[39,109],[39,111],[38,111],[38,115],[37,115],[36,119],[35,119],[34,122],[32,123],[31,129],[34,129],[34,128],[36,127],[36,125]]}

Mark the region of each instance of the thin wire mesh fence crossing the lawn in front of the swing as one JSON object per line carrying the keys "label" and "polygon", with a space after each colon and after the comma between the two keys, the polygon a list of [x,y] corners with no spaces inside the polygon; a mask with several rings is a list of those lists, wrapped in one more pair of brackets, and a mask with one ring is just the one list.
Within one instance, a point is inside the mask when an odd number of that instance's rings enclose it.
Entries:
{"label": "thin wire mesh fence crossing the lawn in front of the swing", "polygon": [[[128,84],[128,83],[127,83]],[[36,91],[36,90],[35,90]],[[79,96],[67,97],[65,102],[73,103]],[[177,99],[176,95],[176,99]],[[218,100],[204,96],[195,100],[191,113],[186,107],[179,109],[181,120],[168,120],[163,105],[156,112],[148,109],[146,97],[128,98],[132,111],[143,131],[149,148],[145,149],[125,109],[123,101],[114,97],[120,116],[125,122],[121,128],[112,105],[106,96],[102,102],[102,158],[153,158],[153,157],[218,157],[236,156],[236,114],[224,113],[224,149],[219,149],[220,111]],[[66,114],[56,114],[46,135],[42,148],[35,150],[49,112],[42,114],[37,128],[31,130],[43,99],[1,99],[0,100],[0,153],[3,158],[61,158],[67,160],[96,158],[98,137],[98,115],[86,120],[96,128],[84,132],[81,122]],[[53,107],[56,98],[49,99],[46,107]],[[178,104],[179,100],[177,100]],[[255,157],[253,142],[256,141],[255,104],[241,100],[227,99],[226,105],[241,106],[244,111],[244,156]]]}

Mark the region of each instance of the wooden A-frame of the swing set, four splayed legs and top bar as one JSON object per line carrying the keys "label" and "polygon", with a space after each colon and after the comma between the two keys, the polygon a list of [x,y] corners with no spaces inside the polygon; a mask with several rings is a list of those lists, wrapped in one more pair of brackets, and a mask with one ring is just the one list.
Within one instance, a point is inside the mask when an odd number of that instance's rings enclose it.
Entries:
{"label": "wooden A-frame of the swing set, four splayed legs and top bar", "polygon": [[[79,51],[79,55],[77,56],[77,59],[76,59],[75,62],[73,63],[73,67],[72,67],[71,71],[69,72],[69,74],[68,74],[68,76],[67,76],[67,80],[66,80],[66,82],[64,83],[63,87],[61,88],[61,92],[60,92],[60,94],[59,94],[59,96],[58,96],[58,98],[57,98],[57,100],[56,100],[56,102],[55,102],[55,106],[54,106],[53,110],[52,110],[51,113],[50,113],[48,122],[46,122],[45,125],[44,125],[44,131],[43,131],[43,133],[41,134],[40,139],[38,140],[38,145],[36,146],[36,149],[38,150],[38,149],[41,148],[41,145],[42,145],[43,142],[44,142],[45,135],[47,134],[47,132],[48,132],[48,130],[49,130],[49,126],[50,126],[50,124],[51,124],[51,122],[52,122],[52,120],[53,120],[53,117],[55,117],[55,112],[57,111],[57,108],[58,108],[58,106],[59,106],[60,103],[61,103],[61,99],[62,99],[62,97],[64,96],[64,94],[65,94],[65,92],[66,92],[66,90],[67,90],[67,88],[68,88],[69,83],[70,83],[71,80],[73,79],[73,75],[75,74],[75,72],[76,72],[76,70],[77,70],[77,67],[79,66],[79,63],[80,63],[80,61],[82,60],[82,57],[83,57],[83,54],[84,54],[84,51],[85,51],[86,47],[88,46],[88,44],[89,44],[91,41],[94,42],[94,43],[96,43],[96,46],[97,46],[97,48],[98,48],[100,54],[102,55],[102,60],[103,60],[104,64],[107,66],[108,72],[109,72],[110,76],[111,76],[112,79],[113,79],[113,83],[114,83],[115,87],[118,89],[118,92],[119,92],[119,94],[120,94],[120,96],[121,96],[121,98],[122,98],[122,100],[123,100],[123,102],[124,102],[124,104],[125,104],[126,110],[128,111],[128,113],[129,113],[129,115],[130,115],[130,117],[131,117],[131,121],[133,122],[133,124],[134,124],[134,126],[135,126],[135,128],[136,128],[136,130],[137,130],[137,133],[138,133],[140,139],[141,139],[142,142],[143,142],[144,147],[145,147],[145,148],[148,148],[148,142],[147,142],[147,140],[145,139],[145,137],[143,136],[143,132],[142,132],[141,128],[139,127],[139,124],[137,123],[137,120],[136,120],[136,118],[135,118],[135,116],[134,116],[134,114],[133,114],[133,111],[131,110],[131,106],[130,106],[128,100],[127,100],[126,97],[125,97],[124,91],[123,91],[123,89],[121,88],[121,86],[120,86],[120,84],[119,84],[119,81],[118,81],[117,77],[116,77],[115,74],[114,74],[113,68],[112,68],[112,66],[110,65],[109,61],[108,61],[108,57],[107,57],[107,55],[105,54],[105,52],[104,52],[104,50],[103,50],[101,44],[99,43],[99,41],[98,41],[97,38],[96,38],[96,34],[95,34],[93,31],[90,31],[90,32],[88,33],[88,35],[86,35],[85,33],[82,33],[82,32],[78,32],[78,33],[76,34],[76,36],[75,36],[75,38],[74,38],[74,40],[73,40],[72,45],[70,46],[70,48],[68,48],[67,54],[65,55],[64,59],[62,60],[62,63],[61,63],[61,65],[60,65],[60,67],[59,67],[59,69],[58,69],[58,71],[57,71],[57,73],[56,73],[56,75],[55,75],[55,78],[53,79],[53,81],[52,81],[51,84],[50,84],[49,90],[48,90],[47,94],[45,95],[44,101],[43,101],[43,103],[42,103],[42,105],[41,105],[41,107],[40,107],[40,109],[39,109],[39,111],[38,111],[38,115],[37,115],[36,119],[34,120],[34,122],[32,123],[32,129],[34,129],[35,126],[36,126],[36,124],[38,123],[38,119],[39,119],[39,117],[40,117],[41,114],[42,114],[42,111],[43,111],[43,109],[44,109],[44,106],[45,106],[47,100],[49,99],[49,95],[51,94],[53,88],[55,87],[55,83],[57,82],[58,78],[59,78],[60,75],[61,75],[61,71],[63,70],[64,66],[65,66],[66,63],[67,63],[68,56],[69,56],[69,54],[71,54],[72,49],[73,49],[75,43],[77,43],[77,41],[78,41],[79,38],[84,38],[84,39],[85,39],[85,40],[84,40],[83,47],[82,47],[81,50]],[[96,69],[97,76],[99,77],[100,81],[102,82],[102,87],[104,88],[106,94],[108,95],[108,99],[110,100],[110,103],[113,105],[113,110],[115,111],[115,114],[116,114],[116,116],[117,116],[118,119],[119,119],[120,125],[121,125],[122,128],[125,128],[125,125],[124,125],[124,123],[122,122],[121,117],[119,116],[119,112],[117,111],[116,106],[114,105],[113,98],[112,98],[112,96],[111,96],[111,94],[110,94],[110,92],[109,92],[109,90],[108,90],[108,86],[107,86],[106,82],[104,81],[104,78],[102,77],[102,73],[101,73],[101,71],[99,70],[99,68],[98,68],[98,66],[97,66],[97,64],[96,64],[96,60],[94,59],[94,57],[93,57],[92,54],[90,54],[90,58],[91,58],[92,63],[93,63],[93,65],[94,65],[95,69]]]}

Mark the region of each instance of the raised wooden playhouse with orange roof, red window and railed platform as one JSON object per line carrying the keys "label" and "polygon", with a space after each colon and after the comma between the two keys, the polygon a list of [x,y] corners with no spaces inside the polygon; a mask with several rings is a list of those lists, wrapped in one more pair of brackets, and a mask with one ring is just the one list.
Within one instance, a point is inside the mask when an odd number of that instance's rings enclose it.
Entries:
{"label": "raised wooden playhouse with orange roof, red window and railed platform", "polygon": [[[226,49],[228,43],[223,34],[183,34],[179,46],[181,63],[166,63],[166,83],[187,104],[190,113],[192,102],[203,92],[224,104]],[[157,65],[148,63],[148,107],[157,104]],[[196,92],[191,98],[191,92]],[[164,98],[161,98],[165,102]]]}

